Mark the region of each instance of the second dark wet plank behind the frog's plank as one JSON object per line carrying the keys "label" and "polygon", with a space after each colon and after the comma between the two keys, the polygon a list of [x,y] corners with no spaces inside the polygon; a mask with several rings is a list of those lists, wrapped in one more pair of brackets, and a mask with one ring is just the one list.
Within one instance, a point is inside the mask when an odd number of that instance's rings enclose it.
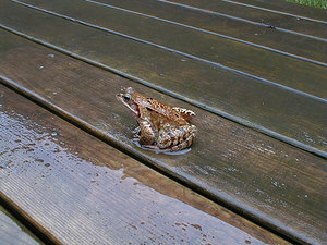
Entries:
{"label": "second dark wet plank behind the frog's plank", "polygon": [[[327,72],[327,64],[326,66],[315,65],[211,34],[121,10],[104,8],[82,0],[72,0],[69,3],[65,0],[23,1],[73,20],[119,32],[130,37],[177,50],[178,52],[195,56],[195,58],[204,59],[208,62],[226,65],[228,69],[234,69],[303,93],[327,98],[327,90],[320,89],[326,86],[324,78]],[[76,5],[78,5],[77,9],[75,8]],[[299,41],[299,38],[296,41]],[[320,46],[319,51],[323,54],[327,53],[326,44]],[[326,61],[327,57],[324,56],[324,58]],[[291,68],[296,70],[296,75],[290,75]],[[307,81],[311,82],[308,83]]]}

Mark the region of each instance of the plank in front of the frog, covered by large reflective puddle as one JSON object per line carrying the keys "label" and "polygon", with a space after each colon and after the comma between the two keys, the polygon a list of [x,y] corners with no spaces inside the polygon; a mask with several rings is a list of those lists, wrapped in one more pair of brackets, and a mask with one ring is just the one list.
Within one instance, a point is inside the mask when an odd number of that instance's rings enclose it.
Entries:
{"label": "plank in front of the frog, covered by large reflective puddle", "polygon": [[0,93],[0,195],[60,243],[288,244],[2,85]]}

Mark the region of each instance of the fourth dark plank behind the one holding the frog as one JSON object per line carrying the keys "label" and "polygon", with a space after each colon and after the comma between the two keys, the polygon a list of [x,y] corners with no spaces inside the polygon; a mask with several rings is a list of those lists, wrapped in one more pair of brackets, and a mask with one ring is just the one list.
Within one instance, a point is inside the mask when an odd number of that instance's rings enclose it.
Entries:
{"label": "fourth dark plank behind the one holding the frog", "polygon": [[[168,2],[168,1],[166,1]],[[243,1],[242,3],[249,4],[249,5],[257,5],[257,7],[264,7],[266,5],[268,8],[267,10],[263,9],[255,9],[255,8],[249,8],[245,5],[234,4],[232,2],[241,2],[241,1],[210,1],[210,0],[172,0],[169,2],[177,2],[182,3],[185,5],[195,7],[198,9],[209,10],[222,14],[228,14],[234,17],[240,17],[245,21],[252,21],[255,23],[262,23],[265,25],[271,25],[277,28],[282,28],[286,32],[291,30],[299,34],[299,38],[301,38],[301,34],[310,35],[313,37],[318,38],[327,38],[326,30],[326,10],[319,10],[314,8],[307,8],[294,3],[288,3],[286,1],[279,1],[281,3],[280,5],[277,4],[261,4],[259,1]],[[267,3],[268,1],[265,1]],[[270,1],[272,2],[272,1]],[[290,13],[294,11],[295,16],[288,15],[288,14],[280,14],[276,12],[269,11],[269,8],[275,5],[275,11],[283,12],[284,8]],[[311,12],[311,14],[310,14]],[[306,14],[310,15],[310,20],[302,17],[302,14],[305,16]],[[313,19],[313,20],[312,20]],[[315,21],[317,19],[317,21]]]}

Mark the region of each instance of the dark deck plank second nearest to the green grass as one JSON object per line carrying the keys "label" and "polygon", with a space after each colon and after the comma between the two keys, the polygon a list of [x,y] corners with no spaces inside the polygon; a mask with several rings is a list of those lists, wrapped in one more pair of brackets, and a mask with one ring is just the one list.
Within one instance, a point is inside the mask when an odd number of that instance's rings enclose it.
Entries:
{"label": "dark deck plank second nearest to the green grass", "polygon": [[[245,0],[246,1],[246,0]],[[278,28],[282,28],[286,32],[291,30],[299,33],[299,39],[301,40],[301,34],[310,35],[318,38],[327,38],[326,25],[327,20],[324,17],[324,22],[315,22],[301,16],[290,16],[279,13],[269,12],[266,10],[249,8],[240,4],[233,4],[225,1],[210,1],[210,0],[172,0],[169,2],[175,2],[185,4],[186,7],[195,7],[203,10],[209,10],[217,12],[218,14],[227,14],[234,17],[244,19],[245,21],[255,22],[257,24],[271,25]],[[246,1],[247,4],[253,2]],[[167,1],[168,3],[168,1]],[[169,4],[169,3],[168,3]],[[290,4],[286,2],[286,4]],[[294,5],[294,3],[291,3]],[[305,12],[307,8],[303,7],[302,12]],[[282,11],[280,9],[280,11]],[[326,10],[314,9],[313,11],[317,16],[326,14]],[[300,14],[301,15],[301,14]]]}

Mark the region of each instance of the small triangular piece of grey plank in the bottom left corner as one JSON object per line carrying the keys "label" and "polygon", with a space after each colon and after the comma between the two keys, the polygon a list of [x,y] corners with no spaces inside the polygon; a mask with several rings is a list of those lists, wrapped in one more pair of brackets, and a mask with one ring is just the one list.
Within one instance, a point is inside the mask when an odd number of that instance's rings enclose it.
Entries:
{"label": "small triangular piece of grey plank in the bottom left corner", "polygon": [[31,232],[14,217],[12,217],[2,206],[0,206],[0,243],[1,245],[44,244],[36,236],[31,234]]}

